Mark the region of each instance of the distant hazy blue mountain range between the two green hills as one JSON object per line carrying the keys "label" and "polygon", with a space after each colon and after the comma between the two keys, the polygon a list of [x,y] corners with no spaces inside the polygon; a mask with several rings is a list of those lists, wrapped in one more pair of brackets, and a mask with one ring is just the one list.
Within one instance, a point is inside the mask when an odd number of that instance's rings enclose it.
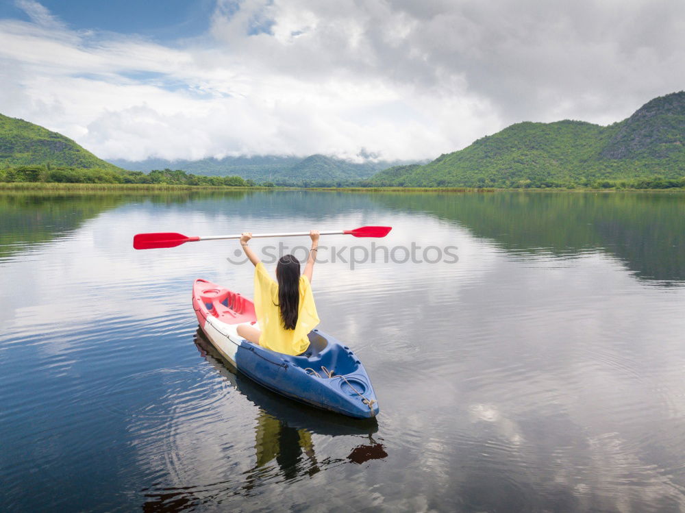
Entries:
{"label": "distant hazy blue mountain range between the two green hills", "polygon": [[195,175],[236,175],[254,182],[273,182],[276,185],[342,184],[368,178],[393,164],[387,161],[356,163],[326,155],[310,155],[307,158],[292,155],[256,155],[202,160],[151,158],[141,161],[110,162],[130,171],[182,169]]}

